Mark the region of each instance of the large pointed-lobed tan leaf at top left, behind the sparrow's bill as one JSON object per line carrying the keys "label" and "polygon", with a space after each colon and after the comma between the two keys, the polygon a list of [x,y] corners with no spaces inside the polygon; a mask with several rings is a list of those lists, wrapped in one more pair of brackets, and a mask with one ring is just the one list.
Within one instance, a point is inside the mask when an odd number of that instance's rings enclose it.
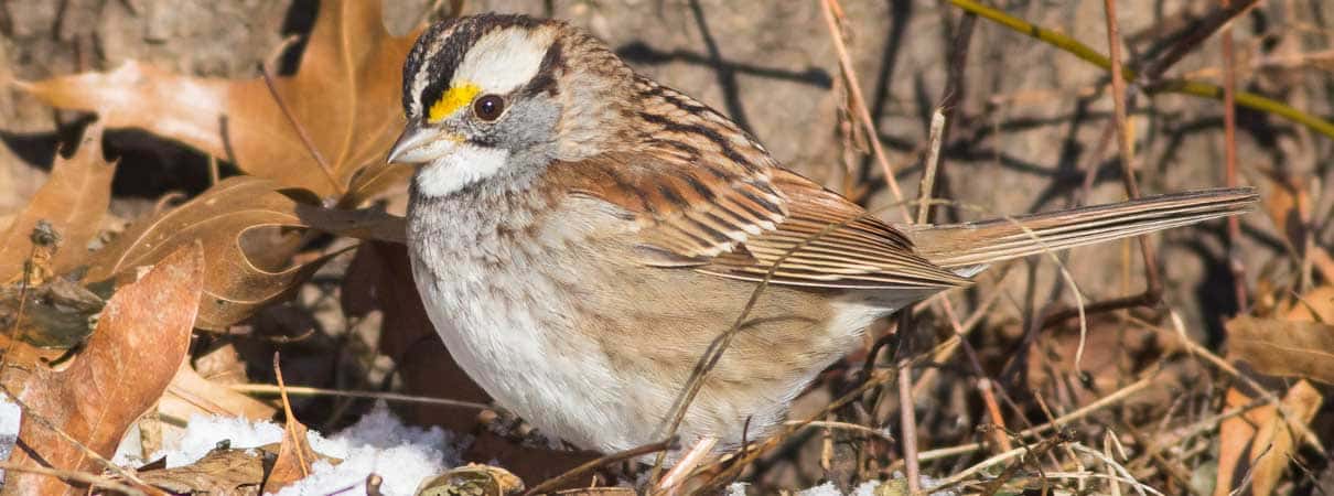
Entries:
{"label": "large pointed-lobed tan leaf at top left, behind the sparrow's bill", "polygon": [[391,36],[380,9],[371,0],[320,3],[300,68],[273,81],[334,177],[263,79],[187,77],[131,61],[109,73],[17,85],[53,107],[99,112],[108,127],[143,128],[232,160],[249,175],[329,196],[347,191],[362,167],[383,163],[403,128],[399,73],[419,29]]}

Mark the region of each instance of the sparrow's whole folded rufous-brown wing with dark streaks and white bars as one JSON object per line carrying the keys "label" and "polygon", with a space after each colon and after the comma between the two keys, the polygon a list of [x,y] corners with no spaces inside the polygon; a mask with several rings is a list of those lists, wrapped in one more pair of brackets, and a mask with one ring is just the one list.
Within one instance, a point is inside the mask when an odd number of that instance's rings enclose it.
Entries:
{"label": "sparrow's whole folded rufous-brown wing with dark streaks and white bars", "polygon": [[[759,281],[782,260],[770,279],[774,284],[862,289],[970,284],[918,256],[903,233],[860,207],[776,167],[728,169],[700,161],[698,153],[652,149],[556,164],[547,177],[559,183],[558,189],[630,212],[640,225],[638,248],[648,265]],[[794,247],[799,248],[787,255]]]}

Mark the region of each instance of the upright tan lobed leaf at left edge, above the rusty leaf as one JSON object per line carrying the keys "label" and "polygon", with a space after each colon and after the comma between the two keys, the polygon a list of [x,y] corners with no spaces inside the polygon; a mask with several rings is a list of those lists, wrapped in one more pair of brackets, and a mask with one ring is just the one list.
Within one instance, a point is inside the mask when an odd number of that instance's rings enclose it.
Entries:
{"label": "upright tan lobed leaf at left edge, above the rusty leaf", "polygon": [[79,152],[69,159],[56,155],[47,184],[28,201],[0,237],[0,283],[16,280],[32,252],[29,236],[39,220],[60,235],[60,249],[51,260],[55,273],[77,267],[88,256],[88,241],[97,235],[111,203],[115,164],[101,157],[101,125],[84,129]]}

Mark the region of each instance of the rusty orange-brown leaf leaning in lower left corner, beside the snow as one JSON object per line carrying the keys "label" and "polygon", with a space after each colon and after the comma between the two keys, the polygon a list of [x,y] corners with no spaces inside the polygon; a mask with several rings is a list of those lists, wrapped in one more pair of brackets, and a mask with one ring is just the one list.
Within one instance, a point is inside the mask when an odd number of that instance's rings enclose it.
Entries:
{"label": "rusty orange-brown leaf leaning in lower left corner, beside the snow", "polygon": [[[185,359],[199,309],[204,252],[180,247],[107,303],[87,347],[64,371],[37,368],[15,392],[28,409],[9,461],[68,471],[99,469],[79,447],[33,416],[103,457],[148,411]],[[4,493],[81,493],[60,479],[11,472]]]}

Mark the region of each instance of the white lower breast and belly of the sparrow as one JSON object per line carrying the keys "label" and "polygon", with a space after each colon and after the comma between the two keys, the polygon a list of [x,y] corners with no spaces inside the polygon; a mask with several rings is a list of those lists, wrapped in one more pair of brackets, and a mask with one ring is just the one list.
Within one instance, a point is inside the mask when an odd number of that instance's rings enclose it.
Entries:
{"label": "white lower breast and belly of the sparrow", "polygon": [[502,407],[544,435],[615,451],[640,440],[622,412],[600,347],[572,328],[556,284],[514,261],[458,260],[412,272],[427,313],[455,361]]}

